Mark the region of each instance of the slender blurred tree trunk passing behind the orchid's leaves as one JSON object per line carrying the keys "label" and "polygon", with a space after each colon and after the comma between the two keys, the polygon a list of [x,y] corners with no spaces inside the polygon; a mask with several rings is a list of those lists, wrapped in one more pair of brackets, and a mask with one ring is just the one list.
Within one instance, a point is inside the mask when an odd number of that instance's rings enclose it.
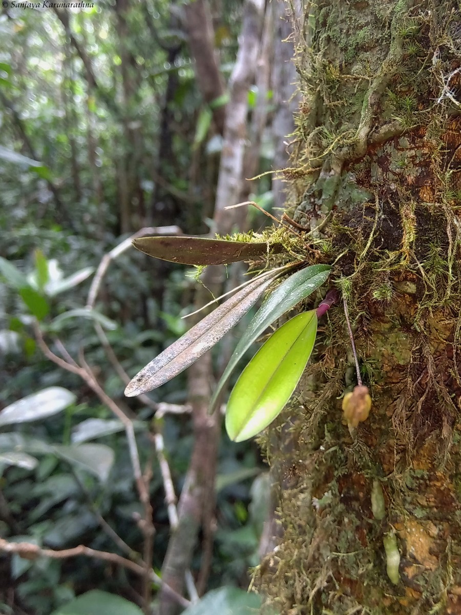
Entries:
{"label": "slender blurred tree trunk passing behind the orchid's leaves", "polygon": [[[230,100],[226,106],[224,123],[223,154],[221,154],[219,167],[213,220],[215,232],[219,234],[232,231],[233,210],[226,210],[226,207],[235,204],[235,194],[239,194],[242,188],[242,163],[245,149],[245,140],[242,136],[246,133],[248,88],[254,74],[263,18],[264,3],[262,0],[246,0],[243,9],[242,36],[230,79]],[[203,286],[197,291],[197,307],[209,301],[210,291],[214,296],[221,295],[223,277],[222,266],[208,266],[203,275]],[[201,317],[203,317],[203,312]],[[184,573],[191,565],[200,526],[203,528],[202,569],[197,580],[200,590],[205,589],[210,573],[213,526],[215,525],[213,517],[216,456],[221,425],[219,413],[208,415],[212,378],[211,354],[207,352],[194,365],[191,365],[188,373],[189,402],[192,406],[194,424],[194,450],[179,498],[178,528],[168,543],[162,567],[162,579],[178,593],[183,590]],[[175,615],[178,612],[177,603],[171,601],[171,597],[164,591],[160,594],[159,612],[160,615]]]}

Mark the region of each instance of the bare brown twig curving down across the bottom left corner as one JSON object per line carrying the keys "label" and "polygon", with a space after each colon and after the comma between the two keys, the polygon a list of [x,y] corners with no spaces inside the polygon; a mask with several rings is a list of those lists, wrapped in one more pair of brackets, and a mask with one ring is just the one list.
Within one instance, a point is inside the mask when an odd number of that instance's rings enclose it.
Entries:
{"label": "bare brown twig curving down across the bottom left corner", "polygon": [[[117,555],[116,553],[98,551],[96,549],[91,549],[90,547],[85,547],[82,544],[78,547],[73,547],[73,549],[62,549],[57,551],[54,549],[42,549],[38,545],[31,542],[8,542],[5,539],[0,538],[0,551],[4,553],[18,554],[19,557],[23,557],[27,560],[34,560],[37,557],[51,557],[53,559],[63,560],[68,557],[86,555],[86,557],[91,557],[95,560],[110,561],[118,566],[123,566],[124,568],[127,568],[140,576],[145,574],[144,566],[136,564],[134,561],[128,560],[127,558]],[[149,571],[149,579],[151,582],[153,581],[159,585],[162,585],[162,589],[179,605],[184,606],[184,608],[191,604],[189,600],[181,596],[178,592],[175,592],[174,589],[162,581],[158,574],[156,574],[152,569]]]}

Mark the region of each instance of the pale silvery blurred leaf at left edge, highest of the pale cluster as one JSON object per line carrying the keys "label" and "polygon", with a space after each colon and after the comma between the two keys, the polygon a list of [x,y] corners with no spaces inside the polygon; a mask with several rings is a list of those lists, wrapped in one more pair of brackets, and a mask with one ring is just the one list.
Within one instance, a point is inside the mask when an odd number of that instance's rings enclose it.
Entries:
{"label": "pale silvery blurred leaf at left edge, highest of the pale cluster", "polygon": [[39,421],[63,411],[75,400],[76,396],[62,387],[43,389],[4,408],[0,412],[0,426]]}

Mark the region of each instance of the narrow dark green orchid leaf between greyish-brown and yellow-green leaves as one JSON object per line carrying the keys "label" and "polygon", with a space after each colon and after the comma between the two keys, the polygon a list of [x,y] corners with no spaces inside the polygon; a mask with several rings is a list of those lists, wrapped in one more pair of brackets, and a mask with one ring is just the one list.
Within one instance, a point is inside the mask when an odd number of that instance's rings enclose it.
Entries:
{"label": "narrow dark green orchid leaf between greyish-brown and yellow-green leaves", "polygon": [[253,344],[254,340],[285,312],[294,308],[299,301],[302,301],[313,293],[314,290],[317,290],[327,279],[330,269],[328,265],[313,265],[312,267],[301,269],[301,271],[297,271],[283,280],[270,293],[235,347],[235,351],[232,357],[230,357],[229,363],[227,363],[223,376],[221,376],[216,391],[213,394],[213,399],[211,399],[211,410],[215,408],[219,394],[223,390],[230,374],[234,371],[235,366],[242,359],[251,344]]}

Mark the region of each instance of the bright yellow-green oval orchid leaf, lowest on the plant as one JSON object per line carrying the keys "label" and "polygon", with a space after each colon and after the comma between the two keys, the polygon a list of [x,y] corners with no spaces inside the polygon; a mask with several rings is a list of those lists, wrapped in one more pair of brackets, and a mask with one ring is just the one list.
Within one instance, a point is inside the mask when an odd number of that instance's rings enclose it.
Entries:
{"label": "bright yellow-green oval orchid leaf, lowest on the plant", "polygon": [[317,314],[311,310],[288,320],[261,346],[227,402],[231,440],[248,440],[280,414],[302,376],[316,334]]}

